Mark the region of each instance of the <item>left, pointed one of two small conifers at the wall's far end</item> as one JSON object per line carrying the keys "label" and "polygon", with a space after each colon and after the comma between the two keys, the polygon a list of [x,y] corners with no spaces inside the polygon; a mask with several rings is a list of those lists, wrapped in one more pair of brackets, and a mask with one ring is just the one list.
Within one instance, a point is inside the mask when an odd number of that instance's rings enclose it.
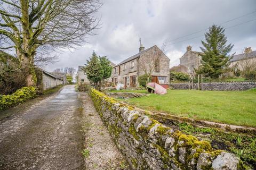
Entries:
{"label": "left, pointed one of two small conifers at the wall's far end", "polygon": [[[84,67],[87,79],[94,83],[95,87],[98,87],[98,83],[102,80],[104,71],[102,69],[100,59],[93,51],[90,60],[87,60],[87,64]],[[100,90],[100,89],[99,89]]]}

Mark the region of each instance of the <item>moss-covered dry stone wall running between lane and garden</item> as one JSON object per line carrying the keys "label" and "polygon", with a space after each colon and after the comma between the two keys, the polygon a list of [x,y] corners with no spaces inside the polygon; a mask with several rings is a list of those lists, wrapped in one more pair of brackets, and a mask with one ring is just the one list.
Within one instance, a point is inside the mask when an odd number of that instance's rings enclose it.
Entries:
{"label": "moss-covered dry stone wall running between lane and garden", "polygon": [[235,155],[213,150],[207,141],[173,131],[95,89],[89,93],[132,169],[244,169]]}

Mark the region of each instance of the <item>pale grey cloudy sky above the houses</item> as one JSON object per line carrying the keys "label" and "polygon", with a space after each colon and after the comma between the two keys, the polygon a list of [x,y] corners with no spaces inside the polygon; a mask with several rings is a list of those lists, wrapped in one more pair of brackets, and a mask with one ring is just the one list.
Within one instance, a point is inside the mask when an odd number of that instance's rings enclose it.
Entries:
{"label": "pale grey cloudy sky above the houses", "polygon": [[[47,65],[47,71],[58,67],[84,65],[92,51],[118,64],[138,53],[139,38],[145,48],[162,47],[170,66],[179,65],[179,58],[188,45],[200,51],[204,33],[212,24],[226,28],[228,42],[234,44],[232,53],[244,47],[256,50],[256,0],[106,0],[97,16],[101,28],[97,35],[87,38],[82,47],[59,55],[59,61]],[[189,36],[187,36],[189,35]]]}

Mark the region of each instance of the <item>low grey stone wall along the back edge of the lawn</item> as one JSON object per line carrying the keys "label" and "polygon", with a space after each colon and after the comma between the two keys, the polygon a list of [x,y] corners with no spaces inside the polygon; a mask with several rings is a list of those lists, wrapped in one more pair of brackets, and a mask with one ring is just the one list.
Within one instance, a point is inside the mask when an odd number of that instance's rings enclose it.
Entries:
{"label": "low grey stone wall along the back edge of the lawn", "polygon": [[[201,88],[201,83],[200,83]],[[170,84],[172,89],[188,89],[188,83],[173,83]],[[212,82],[212,83],[203,83],[203,90],[217,90],[217,91],[239,91],[239,90],[248,90],[256,88],[256,82]],[[196,89],[198,85],[196,83]]]}

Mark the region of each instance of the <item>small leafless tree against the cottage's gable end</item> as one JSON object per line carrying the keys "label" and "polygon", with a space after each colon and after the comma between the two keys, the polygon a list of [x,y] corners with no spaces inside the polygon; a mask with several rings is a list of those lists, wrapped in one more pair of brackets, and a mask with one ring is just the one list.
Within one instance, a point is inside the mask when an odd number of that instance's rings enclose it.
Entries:
{"label": "small leafless tree against the cottage's gable end", "polygon": [[147,53],[145,57],[140,58],[139,69],[147,76],[147,84],[152,73],[159,71],[162,66],[161,57],[164,55],[166,43],[159,49],[155,47],[153,53]]}

